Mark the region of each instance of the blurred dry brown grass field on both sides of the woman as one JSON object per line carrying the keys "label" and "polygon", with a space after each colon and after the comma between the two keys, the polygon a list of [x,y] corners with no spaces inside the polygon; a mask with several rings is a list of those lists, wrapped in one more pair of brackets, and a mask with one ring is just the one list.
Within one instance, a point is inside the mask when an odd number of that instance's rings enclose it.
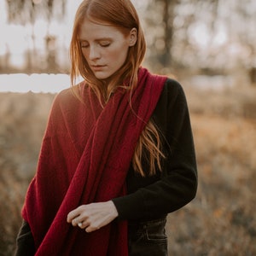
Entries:
{"label": "blurred dry brown grass field on both sides of the woman", "polygon": [[[197,152],[194,201],[169,215],[169,255],[256,255],[256,88],[184,88]],[[0,255],[12,255],[51,94],[0,94]]]}

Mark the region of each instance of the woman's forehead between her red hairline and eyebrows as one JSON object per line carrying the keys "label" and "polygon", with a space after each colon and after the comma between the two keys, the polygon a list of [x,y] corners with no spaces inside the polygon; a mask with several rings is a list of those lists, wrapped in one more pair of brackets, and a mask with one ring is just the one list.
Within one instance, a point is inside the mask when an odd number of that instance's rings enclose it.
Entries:
{"label": "woman's forehead between her red hairline and eyebrows", "polygon": [[124,33],[116,26],[110,24],[99,24],[84,19],[79,28],[79,39],[116,38],[124,37]]}

